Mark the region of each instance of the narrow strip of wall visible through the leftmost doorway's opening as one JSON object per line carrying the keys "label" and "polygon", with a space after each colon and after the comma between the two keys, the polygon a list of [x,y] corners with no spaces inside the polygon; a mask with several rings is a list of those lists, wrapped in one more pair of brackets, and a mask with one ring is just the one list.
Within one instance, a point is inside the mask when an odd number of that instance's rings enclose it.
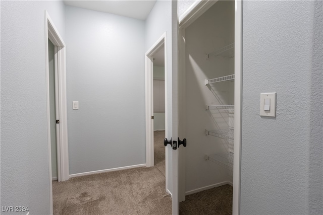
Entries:
{"label": "narrow strip of wall visible through the leftmost doorway's opening", "polygon": [[49,111],[50,111],[50,151],[51,177],[57,178],[57,145],[56,145],[56,103],[55,103],[55,46],[48,39],[49,68]]}

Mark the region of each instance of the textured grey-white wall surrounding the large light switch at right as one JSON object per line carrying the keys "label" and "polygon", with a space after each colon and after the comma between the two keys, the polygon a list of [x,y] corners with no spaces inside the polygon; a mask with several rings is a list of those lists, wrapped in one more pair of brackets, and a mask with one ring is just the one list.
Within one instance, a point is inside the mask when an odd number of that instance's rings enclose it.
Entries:
{"label": "textured grey-white wall surrounding the large light switch at right", "polygon": [[[241,214],[323,214],[322,2],[244,1]],[[277,117],[259,116],[277,92]]]}

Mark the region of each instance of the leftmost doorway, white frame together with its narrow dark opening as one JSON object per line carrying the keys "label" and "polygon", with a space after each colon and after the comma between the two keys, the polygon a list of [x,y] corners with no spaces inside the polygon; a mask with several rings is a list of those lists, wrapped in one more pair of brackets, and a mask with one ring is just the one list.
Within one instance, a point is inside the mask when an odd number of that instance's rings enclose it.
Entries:
{"label": "leftmost doorway, white frame together with its narrow dark opening", "polygon": [[[67,138],[67,104],[66,104],[66,50],[65,43],[60,36],[57,28],[53,24],[47,11],[44,11],[45,18],[45,73],[46,73],[46,105],[47,105],[47,145],[48,145],[48,180],[49,180],[49,201],[50,214],[52,214],[52,154],[51,141],[55,141],[57,148],[57,180],[66,181],[70,178],[69,158],[68,158],[68,138]],[[49,44],[52,43],[52,45]],[[51,73],[49,69],[49,46],[51,55]],[[52,52],[53,48],[53,52]],[[53,55],[53,56],[52,56]],[[55,80],[53,78],[52,69],[55,72]],[[51,82],[50,82],[51,79]],[[55,84],[54,84],[55,83]],[[55,86],[55,87],[54,87]],[[51,90],[50,90],[51,88]],[[55,88],[55,91],[53,91]],[[50,93],[50,91],[52,91]],[[53,95],[55,92],[55,95]],[[55,99],[54,99],[55,97]],[[51,101],[54,99],[55,101]],[[54,105],[55,103],[55,105]],[[55,108],[50,108],[53,105]],[[53,111],[55,109],[55,111]],[[52,111],[52,113],[51,113]],[[54,114],[55,113],[55,114]],[[53,122],[55,120],[55,124]],[[54,125],[53,125],[54,124]],[[55,129],[53,129],[55,127]],[[56,135],[55,135],[56,133]],[[51,135],[53,134],[53,135]],[[53,140],[52,140],[53,138]],[[55,145],[53,145],[55,148]],[[54,153],[53,153],[54,154]],[[55,156],[55,155],[53,155]],[[55,164],[54,164],[55,165]],[[55,172],[55,170],[53,171]]]}

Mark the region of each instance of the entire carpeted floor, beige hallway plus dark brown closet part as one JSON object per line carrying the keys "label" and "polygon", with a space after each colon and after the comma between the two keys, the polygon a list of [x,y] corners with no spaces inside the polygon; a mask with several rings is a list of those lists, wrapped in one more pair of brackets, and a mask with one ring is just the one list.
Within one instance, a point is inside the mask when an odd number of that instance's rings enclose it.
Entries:
{"label": "entire carpeted floor, beige hallway plus dark brown closet part", "polygon": [[[53,181],[53,214],[172,214],[165,191],[165,131],[154,132],[154,163],[135,168]],[[180,214],[232,214],[232,187],[186,196]]]}

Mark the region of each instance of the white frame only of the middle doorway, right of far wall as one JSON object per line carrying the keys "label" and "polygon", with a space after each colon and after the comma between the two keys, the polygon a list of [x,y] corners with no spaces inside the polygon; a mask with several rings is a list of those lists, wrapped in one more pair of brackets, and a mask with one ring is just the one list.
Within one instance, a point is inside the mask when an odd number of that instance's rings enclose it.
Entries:
{"label": "white frame only of the middle doorway, right of far wall", "polygon": [[[146,121],[146,167],[154,166],[154,146],[153,146],[153,54],[164,45],[165,52],[165,136],[167,136],[168,128],[168,111],[167,111],[167,33],[159,37],[159,39],[145,53],[145,121]],[[166,174],[166,192],[168,190],[168,152],[165,148],[165,174]]]}

